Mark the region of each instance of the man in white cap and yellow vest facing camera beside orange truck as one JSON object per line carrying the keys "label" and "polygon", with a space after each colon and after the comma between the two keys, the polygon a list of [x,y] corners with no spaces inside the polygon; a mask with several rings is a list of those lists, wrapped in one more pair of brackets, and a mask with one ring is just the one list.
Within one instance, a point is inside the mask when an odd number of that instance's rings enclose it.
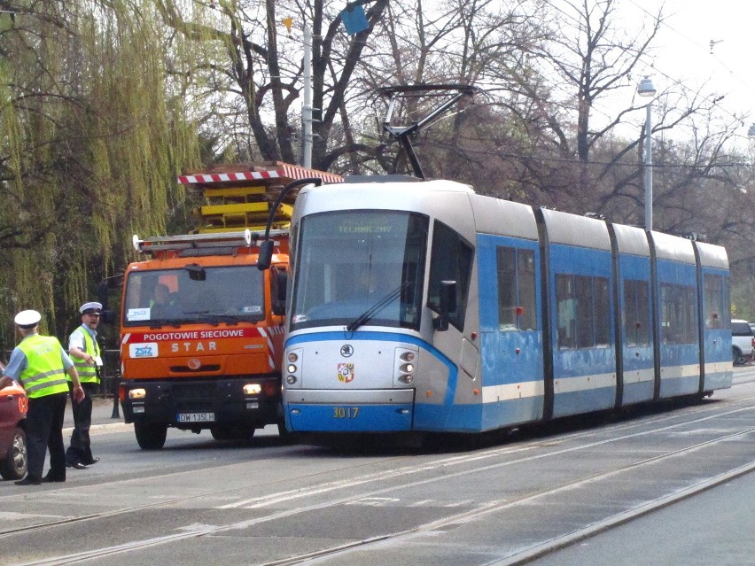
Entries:
{"label": "man in white cap and yellow vest facing camera beside orange truck", "polygon": [[84,389],[84,399],[72,402],[74,407],[74,432],[71,446],[66,450],[68,468],[85,469],[96,464],[99,458],[92,456],[90,427],[92,424],[92,396],[99,386],[99,368],[102,357],[97,344],[97,325],[102,305],[97,302],[84,303],[79,307],[82,325],[68,338],[68,353],[74,361],[76,371]]}

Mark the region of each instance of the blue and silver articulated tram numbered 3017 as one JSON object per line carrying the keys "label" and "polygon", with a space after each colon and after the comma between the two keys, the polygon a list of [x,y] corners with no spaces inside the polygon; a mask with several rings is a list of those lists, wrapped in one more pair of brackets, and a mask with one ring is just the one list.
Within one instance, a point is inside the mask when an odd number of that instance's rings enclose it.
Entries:
{"label": "blue and silver articulated tram numbered 3017", "polygon": [[300,191],[284,414],[298,432],[481,432],[732,379],[715,245],[449,181]]}

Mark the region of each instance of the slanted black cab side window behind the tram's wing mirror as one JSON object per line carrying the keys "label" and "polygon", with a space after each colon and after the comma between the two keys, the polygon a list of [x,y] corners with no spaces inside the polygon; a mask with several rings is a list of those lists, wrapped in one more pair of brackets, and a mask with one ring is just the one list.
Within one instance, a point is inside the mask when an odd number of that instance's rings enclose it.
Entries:
{"label": "slanted black cab side window behind the tram's wing mirror", "polygon": [[438,313],[440,311],[440,282],[455,281],[456,310],[448,313],[448,322],[458,330],[463,330],[473,249],[458,232],[448,228],[441,221],[435,221],[432,232],[427,306]]}

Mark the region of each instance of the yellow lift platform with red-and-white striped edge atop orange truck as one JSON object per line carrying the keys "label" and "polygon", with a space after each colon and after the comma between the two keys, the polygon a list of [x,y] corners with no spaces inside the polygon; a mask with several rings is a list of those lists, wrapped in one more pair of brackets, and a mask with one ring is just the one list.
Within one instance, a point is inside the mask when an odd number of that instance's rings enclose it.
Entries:
{"label": "yellow lift platform with red-and-white striped edge atop orange truck", "polygon": [[[194,213],[199,219],[198,234],[222,233],[239,229],[264,231],[270,206],[285,185],[297,179],[319,177],[323,182],[343,182],[337,174],[270,162],[251,167],[225,165],[201,173],[178,177],[178,182],[201,192],[206,204]],[[280,205],[272,227],[287,229],[291,223],[295,195]]]}

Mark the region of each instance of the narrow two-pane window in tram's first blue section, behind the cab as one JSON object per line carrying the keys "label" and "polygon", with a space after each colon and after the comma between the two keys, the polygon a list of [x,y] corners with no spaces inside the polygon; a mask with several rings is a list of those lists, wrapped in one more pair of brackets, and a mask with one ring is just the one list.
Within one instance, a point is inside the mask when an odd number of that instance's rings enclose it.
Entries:
{"label": "narrow two-pane window in tram's first blue section, behind the cab", "polygon": [[499,247],[498,323],[501,330],[537,330],[532,250]]}

